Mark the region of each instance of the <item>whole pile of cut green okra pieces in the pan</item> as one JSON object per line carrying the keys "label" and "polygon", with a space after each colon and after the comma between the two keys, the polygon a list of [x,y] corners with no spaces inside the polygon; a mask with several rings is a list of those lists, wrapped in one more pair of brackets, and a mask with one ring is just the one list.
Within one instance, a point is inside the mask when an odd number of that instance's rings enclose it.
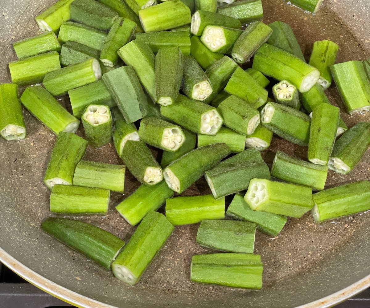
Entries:
{"label": "whole pile of cut green okra pieces in the pan", "polygon": [[[315,13],[322,0],[290,2]],[[260,289],[256,230],[369,210],[367,180],[325,189],[370,145],[370,123],[347,128],[325,90],[334,81],[346,112],[369,111],[370,59],[336,64],[324,40],[306,61],[290,26],[262,17],[261,0],[59,0],[38,15],[43,33],[14,43],[0,85],[1,137],[26,138],[22,105],[57,135],[44,177],[55,215],[107,214],[126,168],[141,183],[115,207],[138,225],[127,244],[77,219],[41,228],[134,285],[174,226],[200,223],[196,242],[219,252],[192,257],[191,281]],[[273,135],[307,159],[277,151],[269,168]],[[111,141],[122,165],[84,160]],[[182,195],[203,176],[209,194]]]}

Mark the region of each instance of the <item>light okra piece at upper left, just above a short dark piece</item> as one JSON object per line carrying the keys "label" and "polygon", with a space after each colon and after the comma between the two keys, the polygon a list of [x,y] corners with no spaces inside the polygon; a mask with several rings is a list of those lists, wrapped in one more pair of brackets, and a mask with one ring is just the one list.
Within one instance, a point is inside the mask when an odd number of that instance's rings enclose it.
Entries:
{"label": "light okra piece at upper left, just above a short dark piece", "polygon": [[107,34],[104,32],[71,21],[64,23],[58,34],[60,43],[74,41],[99,51],[102,50],[105,40],[107,40]]}

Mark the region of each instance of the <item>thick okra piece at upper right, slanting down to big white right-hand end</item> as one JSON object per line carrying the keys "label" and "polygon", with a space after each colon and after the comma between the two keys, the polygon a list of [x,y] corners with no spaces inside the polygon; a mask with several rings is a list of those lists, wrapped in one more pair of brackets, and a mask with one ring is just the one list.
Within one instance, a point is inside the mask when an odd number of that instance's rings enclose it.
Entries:
{"label": "thick okra piece at upper right, slanting down to big white right-hand end", "polygon": [[253,58],[254,69],[279,81],[286,79],[300,92],[307,92],[320,78],[317,68],[286,50],[270,44],[263,44]]}

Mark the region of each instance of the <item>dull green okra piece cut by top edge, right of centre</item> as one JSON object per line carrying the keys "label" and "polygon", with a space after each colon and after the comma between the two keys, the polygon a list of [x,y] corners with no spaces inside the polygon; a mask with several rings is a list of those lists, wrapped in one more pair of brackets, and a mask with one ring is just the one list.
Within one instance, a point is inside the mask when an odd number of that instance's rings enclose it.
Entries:
{"label": "dull green okra piece cut by top edge, right of centre", "polygon": [[218,7],[222,15],[238,18],[242,24],[261,20],[263,17],[261,0],[240,0]]}

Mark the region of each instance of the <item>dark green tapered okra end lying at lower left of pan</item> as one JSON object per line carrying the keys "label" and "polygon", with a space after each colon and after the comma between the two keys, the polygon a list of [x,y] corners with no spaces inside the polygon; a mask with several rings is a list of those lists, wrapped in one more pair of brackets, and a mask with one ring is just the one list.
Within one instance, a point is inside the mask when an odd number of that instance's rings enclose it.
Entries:
{"label": "dark green tapered okra end lying at lower left of pan", "polygon": [[50,217],[41,229],[107,270],[125,245],[125,241],[108,231],[73,219]]}

